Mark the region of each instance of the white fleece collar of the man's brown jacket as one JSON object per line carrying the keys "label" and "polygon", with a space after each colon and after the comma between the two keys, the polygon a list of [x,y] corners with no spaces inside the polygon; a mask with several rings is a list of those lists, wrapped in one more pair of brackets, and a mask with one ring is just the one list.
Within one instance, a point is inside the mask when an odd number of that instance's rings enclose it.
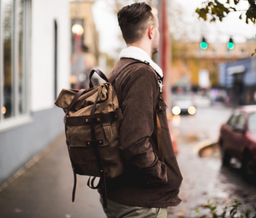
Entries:
{"label": "white fleece collar of the man's brown jacket", "polygon": [[163,77],[162,69],[150,58],[150,56],[143,49],[135,46],[123,48],[119,54],[119,59],[122,57],[133,58],[139,61],[147,61],[149,65],[157,72],[161,78]]}

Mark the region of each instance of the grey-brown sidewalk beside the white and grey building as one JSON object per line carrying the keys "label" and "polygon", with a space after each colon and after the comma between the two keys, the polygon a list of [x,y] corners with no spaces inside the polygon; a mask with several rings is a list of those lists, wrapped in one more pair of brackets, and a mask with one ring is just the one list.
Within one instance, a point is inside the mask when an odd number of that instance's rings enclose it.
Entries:
{"label": "grey-brown sidewalk beside the white and grey building", "polygon": [[53,149],[47,155],[0,192],[0,218],[106,217],[98,192],[87,187],[87,176],[77,176],[72,203],[73,172],[65,135],[49,146]]}

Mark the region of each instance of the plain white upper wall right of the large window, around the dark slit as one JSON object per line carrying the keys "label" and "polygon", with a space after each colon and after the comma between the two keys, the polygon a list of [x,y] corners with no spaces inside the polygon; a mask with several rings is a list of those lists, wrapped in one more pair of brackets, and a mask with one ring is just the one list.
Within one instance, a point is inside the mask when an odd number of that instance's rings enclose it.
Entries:
{"label": "plain white upper wall right of the large window, around the dark slit", "polygon": [[68,89],[70,18],[67,0],[32,0],[31,109],[54,107],[54,20],[58,25],[58,89]]}

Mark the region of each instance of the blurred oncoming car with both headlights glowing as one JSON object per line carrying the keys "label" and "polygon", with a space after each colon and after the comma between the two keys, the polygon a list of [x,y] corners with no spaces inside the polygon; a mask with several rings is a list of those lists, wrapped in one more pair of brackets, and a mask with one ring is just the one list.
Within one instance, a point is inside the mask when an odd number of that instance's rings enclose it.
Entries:
{"label": "blurred oncoming car with both headlights glowing", "polygon": [[196,113],[195,103],[191,94],[173,94],[172,96],[172,113],[179,115],[188,113],[193,115]]}

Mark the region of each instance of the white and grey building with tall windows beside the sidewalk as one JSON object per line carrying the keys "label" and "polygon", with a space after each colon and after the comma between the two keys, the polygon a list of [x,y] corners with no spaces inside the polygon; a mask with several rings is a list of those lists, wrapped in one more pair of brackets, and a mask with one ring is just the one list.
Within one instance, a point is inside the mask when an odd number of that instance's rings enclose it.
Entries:
{"label": "white and grey building with tall windows beside the sidewalk", "polygon": [[63,133],[69,2],[0,0],[0,185]]}

